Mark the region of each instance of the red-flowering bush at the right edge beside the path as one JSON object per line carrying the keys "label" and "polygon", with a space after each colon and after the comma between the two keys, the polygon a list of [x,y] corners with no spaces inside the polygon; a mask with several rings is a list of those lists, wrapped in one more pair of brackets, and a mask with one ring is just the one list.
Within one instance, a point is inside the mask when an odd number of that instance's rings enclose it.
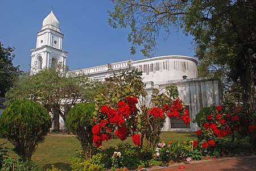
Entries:
{"label": "red-flowering bush at the right edge beside the path", "polygon": [[193,122],[200,127],[196,133],[207,155],[253,152],[256,144],[255,114],[248,112],[245,106],[231,101],[211,105],[200,110]]}

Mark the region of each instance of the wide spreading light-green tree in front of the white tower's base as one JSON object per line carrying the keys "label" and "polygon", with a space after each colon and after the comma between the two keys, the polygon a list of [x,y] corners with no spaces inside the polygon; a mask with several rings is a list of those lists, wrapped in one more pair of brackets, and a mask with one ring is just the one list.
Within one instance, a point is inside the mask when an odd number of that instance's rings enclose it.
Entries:
{"label": "wide spreading light-green tree in front of the white tower's base", "polygon": [[[69,74],[69,75],[68,75]],[[84,74],[58,73],[45,69],[37,74],[28,73],[15,82],[13,89],[6,93],[7,102],[15,99],[30,99],[39,102],[56,118],[55,130],[59,129],[59,115],[64,119],[72,106],[92,101],[100,87],[97,81],[89,80]]]}

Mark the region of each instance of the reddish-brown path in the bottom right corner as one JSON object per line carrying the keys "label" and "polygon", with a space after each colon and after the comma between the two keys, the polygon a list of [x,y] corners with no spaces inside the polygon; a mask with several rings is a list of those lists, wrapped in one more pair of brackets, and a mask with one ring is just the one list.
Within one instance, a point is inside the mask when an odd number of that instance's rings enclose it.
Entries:
{"label": "reddish-brown path in the bottom right corner", "polygon": [[256,156],[222,157],[191,162],[180,162],[168,166],[155,166],[142,168],[143,171],[233,171],[249,170],[256,171]]}

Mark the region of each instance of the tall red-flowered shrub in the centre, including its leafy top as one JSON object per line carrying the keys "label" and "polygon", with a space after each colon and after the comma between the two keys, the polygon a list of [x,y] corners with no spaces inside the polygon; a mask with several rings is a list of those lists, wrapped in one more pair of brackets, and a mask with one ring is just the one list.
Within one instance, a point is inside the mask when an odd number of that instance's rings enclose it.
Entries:
{"label": "tall red-flowered shrub in the centre, including its leafy top", "polygon": [[122,141],[131,135],[140,149],[143,140],[152,149],[159,141],[160,130],[166,116],[175,116],[189,123],[189,114],[184,102],[179,99],[177,87],[172,85],[147,95],[141,73],[130,68],[113,77],[106,78],[105,86],[96,95],[96,112],[92,128],[93,141],[100,147],[112,134]]}

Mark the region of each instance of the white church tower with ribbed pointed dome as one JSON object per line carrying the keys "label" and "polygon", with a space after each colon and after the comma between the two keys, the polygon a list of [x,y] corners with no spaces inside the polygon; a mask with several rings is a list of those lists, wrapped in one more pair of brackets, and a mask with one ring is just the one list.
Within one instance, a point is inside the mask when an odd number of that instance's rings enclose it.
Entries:
{"label": "white church tower with ribbed pointed dome", "polygon": [[31,74],[41,69],[65,67],[68,52],[62,49],[64,35],[59,26],[59,21],[51,11],[43,20],[42,29],[38,32],[36,48],[31,50]]}

